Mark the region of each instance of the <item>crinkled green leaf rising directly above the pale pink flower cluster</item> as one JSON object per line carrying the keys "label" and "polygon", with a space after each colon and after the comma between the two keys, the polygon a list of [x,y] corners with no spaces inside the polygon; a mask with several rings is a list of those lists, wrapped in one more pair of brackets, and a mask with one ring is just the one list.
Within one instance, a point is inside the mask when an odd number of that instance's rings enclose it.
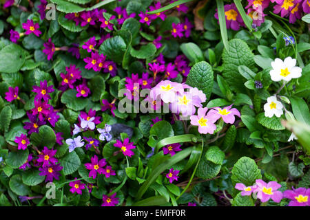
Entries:
{"label": "crinkled green leaf rising directly above the pale pink flower cluster", "polygon": [[214,83],[214,76],[211,65],[205,61],[196,63],[190,70],[186,83],[191,87],[196,87],[203,91],[208,100],[211,95]]}

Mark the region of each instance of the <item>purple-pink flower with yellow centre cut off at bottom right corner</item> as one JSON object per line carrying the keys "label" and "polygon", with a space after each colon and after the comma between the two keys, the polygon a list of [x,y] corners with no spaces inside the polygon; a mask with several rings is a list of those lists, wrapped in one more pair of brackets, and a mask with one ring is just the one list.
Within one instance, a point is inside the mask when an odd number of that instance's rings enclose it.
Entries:
{"label": "purple-pink flower with yellow centre cut off at bottom right corner", "polygon": [[290,199],[289,206],[310,206],[310,188],[285,190],[283,197]]}

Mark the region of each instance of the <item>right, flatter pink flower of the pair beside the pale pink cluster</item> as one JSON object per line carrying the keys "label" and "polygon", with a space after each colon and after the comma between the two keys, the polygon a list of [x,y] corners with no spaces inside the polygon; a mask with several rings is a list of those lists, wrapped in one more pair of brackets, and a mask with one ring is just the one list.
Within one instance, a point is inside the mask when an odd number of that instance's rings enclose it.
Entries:
{"label": "right, flatter pink flower of the pair beside the pale pink cluster", "polygon": [[214,118],[218,120],[219,118],[223,118],[223,121],[227,124],[234,124],[235,115],[240,118],[240,112],[238,109],[231,109],[233,104],[221,109],[220,107],[215,107],[209,111],[210,114],[214,115]]}

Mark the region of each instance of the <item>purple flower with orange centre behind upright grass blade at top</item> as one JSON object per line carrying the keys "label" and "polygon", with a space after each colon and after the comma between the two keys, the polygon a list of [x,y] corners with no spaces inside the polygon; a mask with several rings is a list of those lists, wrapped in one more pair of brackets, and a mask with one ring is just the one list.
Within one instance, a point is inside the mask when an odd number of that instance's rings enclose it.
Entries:
{"label": "purple flower with orange centre behind upright grass blade at top", "polygon": [[[245,26],[245,23],[242,20],[241,15],[238,12],[238,9],[234,3],[231,5],[225,5],[225,19],[226,19],[226,27],[227,29],[231,28],[232,30],[239,30],[240,26]],[[216,14],[214,17],[218,19],[218,10],[216,10]]]}

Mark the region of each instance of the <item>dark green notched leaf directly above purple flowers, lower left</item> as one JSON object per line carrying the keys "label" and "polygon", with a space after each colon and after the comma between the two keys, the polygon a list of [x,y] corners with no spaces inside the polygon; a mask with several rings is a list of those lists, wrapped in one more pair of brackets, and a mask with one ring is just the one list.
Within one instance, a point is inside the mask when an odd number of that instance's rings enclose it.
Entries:
{"label": "dark green notched leaf directly above purple flowers, lower left", "polygon": [[56,142],[56,135],[53,129],[48,125],[39,127],[39,133],[32,133],[30,140],[34,146],[47,146],[51,148]]}

